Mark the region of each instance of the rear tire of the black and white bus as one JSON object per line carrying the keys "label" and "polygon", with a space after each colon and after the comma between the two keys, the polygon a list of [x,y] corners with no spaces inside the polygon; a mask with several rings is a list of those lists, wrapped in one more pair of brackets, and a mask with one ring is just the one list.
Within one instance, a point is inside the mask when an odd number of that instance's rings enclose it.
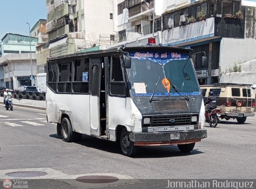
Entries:
{"label": "rear tire of the black and white bus", "polygon": [[73,142],[75,133],[72,131],[72,126],[67,117],[61,121],[61,135],[65,142]]}

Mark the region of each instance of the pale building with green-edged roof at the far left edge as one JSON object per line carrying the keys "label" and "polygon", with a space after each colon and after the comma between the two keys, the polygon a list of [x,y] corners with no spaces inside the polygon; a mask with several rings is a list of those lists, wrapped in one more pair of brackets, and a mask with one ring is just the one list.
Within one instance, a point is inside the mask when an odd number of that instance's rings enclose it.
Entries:
{"label": "pale building with green-edged roof at the far left edge", "polygon": [[[31,58],[30,58],[31,39]],[[0,85],[17,89],[21,85],[31,86],[30,75],[36,75],[37,38],[7,33],[0,44]],[[32,62],[32,68],[31,68]],[[32,71],[31,71],[32,70]]]}

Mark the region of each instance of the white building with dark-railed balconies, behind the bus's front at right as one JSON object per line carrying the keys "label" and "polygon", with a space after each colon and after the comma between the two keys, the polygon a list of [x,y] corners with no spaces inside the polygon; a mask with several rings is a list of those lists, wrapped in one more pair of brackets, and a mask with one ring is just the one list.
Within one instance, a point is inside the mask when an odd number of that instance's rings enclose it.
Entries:
{"label": "white building with dark-railed balconies, behind the bus's front at right", "polygon": [[255,0],[116,0],[115,4],[118,40],[109,48],[146,45],[154,36],[156,44],[204,51],[207,66],[201,63],[203,53],[192,55],[200,84],[216,83],[229,68],[256,58]]}

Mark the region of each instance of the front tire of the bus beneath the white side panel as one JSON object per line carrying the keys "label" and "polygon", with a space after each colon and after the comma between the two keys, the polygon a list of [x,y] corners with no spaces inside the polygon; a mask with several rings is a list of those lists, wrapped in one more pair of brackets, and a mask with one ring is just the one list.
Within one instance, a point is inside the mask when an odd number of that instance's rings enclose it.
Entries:
{"label": "front tire of the bus beneath the white side panel", "polygon": [[138,147],[134,146],[134,142],[130,141],[129,133],[126,128],[123,128],[120,135],[120,147],[122,153],[126,156],[134,156]]}

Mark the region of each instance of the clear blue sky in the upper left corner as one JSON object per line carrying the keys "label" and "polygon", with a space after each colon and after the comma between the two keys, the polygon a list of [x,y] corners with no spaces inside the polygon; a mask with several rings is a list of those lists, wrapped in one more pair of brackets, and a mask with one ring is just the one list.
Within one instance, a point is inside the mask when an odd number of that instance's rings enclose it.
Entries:
{"label": "clear blue sky in the upper left corner", "polygon": [[0,40],[6,33],[29,36],[39,19],[46,19],[46,0],[0,0]]}

